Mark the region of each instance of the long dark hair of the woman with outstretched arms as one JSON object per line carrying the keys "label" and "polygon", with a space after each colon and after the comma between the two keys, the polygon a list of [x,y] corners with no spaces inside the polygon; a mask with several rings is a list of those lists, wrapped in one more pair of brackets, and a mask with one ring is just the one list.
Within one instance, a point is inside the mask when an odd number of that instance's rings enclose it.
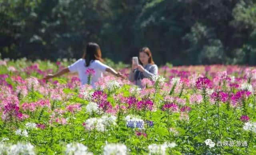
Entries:
{"label": "long dark hair of the woman with outstretched arms", "polygon": [[90,65],[91,60],[99,60],[100,62],[103,62],[101,58],[100,46],[97,43],[88,43],[82,59],[85,59],[86,67]]}

